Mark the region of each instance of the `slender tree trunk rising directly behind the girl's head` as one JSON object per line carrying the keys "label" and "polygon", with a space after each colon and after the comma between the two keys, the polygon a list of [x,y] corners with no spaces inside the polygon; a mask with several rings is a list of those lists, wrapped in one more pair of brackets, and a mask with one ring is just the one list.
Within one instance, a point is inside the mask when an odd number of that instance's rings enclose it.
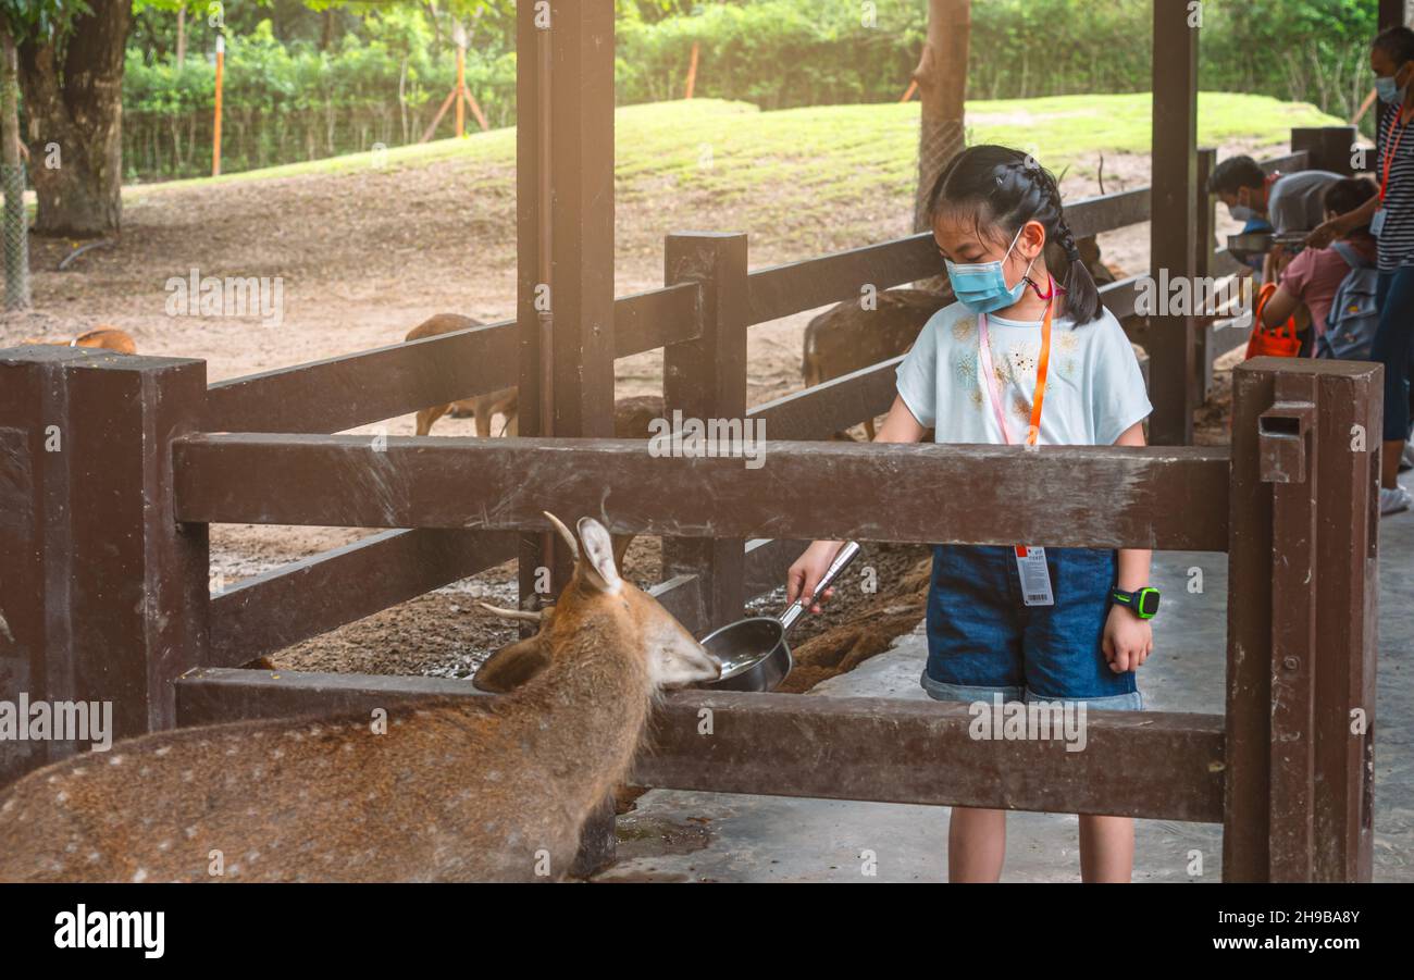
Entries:
{"label": "slender tree trunk rising directly behind the girl's head", "polygon": [[971,0],[928,0],[928,41],[913,71],[923,103],[918,134],[918,197],[913,231],[926,232],[928,195],[943,167],[967,143],[963,100],[967,98],[967,41]]}

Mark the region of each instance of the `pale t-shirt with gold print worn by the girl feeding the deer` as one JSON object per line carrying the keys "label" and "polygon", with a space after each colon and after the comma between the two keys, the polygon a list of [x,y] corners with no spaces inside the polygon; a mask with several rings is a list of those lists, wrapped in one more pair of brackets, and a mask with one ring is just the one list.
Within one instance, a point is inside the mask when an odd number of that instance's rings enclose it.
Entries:
{"label": "pale t-shirt with gold print worn by the girl feeding the deer", "polygon": [[[1041,321],[987,318],[1007,428],[1025,443],[1041,358]],[[939,310],[898,366],[898,393],[939,443],[1003,443],[980,376],[977,314],[962,303]],[[1042,445],[1113,445],[1154,410],[1120,321],[1109,310],[1083,327],[1058,318],[1041,414]]]}

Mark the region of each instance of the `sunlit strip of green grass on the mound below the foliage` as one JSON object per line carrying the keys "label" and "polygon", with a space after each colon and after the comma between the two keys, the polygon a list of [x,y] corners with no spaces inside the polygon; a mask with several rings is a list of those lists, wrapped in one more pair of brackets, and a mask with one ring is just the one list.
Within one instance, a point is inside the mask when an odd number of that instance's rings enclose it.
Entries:
{"label": "sunlit strip of green grass on the mound below the foliage", "polygon": [[[1059,173],[1093,170],[1097,153],[1144,154],[1150,150],[1150,96],[1073,95],[1048,99],[967,103],[969,143],[1004,143],[1036,154]],[[617,112],[617,173],[621,199],[660,194],[672,181],[680,191],[713,197],[745,195],[761,185],[786,188],[819,206],[831,198],[875,189],[909,194],[918,143],[916,102],[899,105],[814,106],[761,112],[717,99],[625,106]],[[1200,144],[1246,140],[1277,146],[1292,126],[1338,126],[1339,119],[1314,106],[1266,96],[1205,92],[1199,96]],[[485,168],[485,180],[505,180],[515,165],[515,130],[477,133],[383,151],[390,170],[460,160]],[[139,185],[157,188],[366,173],[372,153],[269,167],[218,178]]]}

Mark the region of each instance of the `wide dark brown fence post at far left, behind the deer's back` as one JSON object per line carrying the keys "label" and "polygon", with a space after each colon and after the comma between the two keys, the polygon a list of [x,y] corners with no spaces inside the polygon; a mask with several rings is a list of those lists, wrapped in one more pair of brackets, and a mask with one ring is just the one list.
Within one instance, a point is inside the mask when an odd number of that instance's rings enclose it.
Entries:
{"label": "wide dark brown fence post at far left, behind the deer's back", "polygon": [[[178,525],[173,440],[206,365],[64,346],[0,355],[0,700],[107,703],[113,738],[170,728],[206,663],[205,525]],[[79,751],[0,741],[0,783]]]}

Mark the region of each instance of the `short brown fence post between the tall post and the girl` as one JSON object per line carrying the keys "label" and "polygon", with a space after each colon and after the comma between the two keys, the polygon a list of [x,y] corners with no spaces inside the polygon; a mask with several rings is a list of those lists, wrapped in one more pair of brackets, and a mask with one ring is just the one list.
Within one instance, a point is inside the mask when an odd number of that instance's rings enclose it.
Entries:
{"label": "short brown fence post between the tall post and the girl", "polygon": [[[747,426],[747,236],[680,232],[665,242],[665,281],[701,283],[701,337],[663,352],[663,403],[669,423],[683,419],[741,420]],[[769,433],[768,433],[769,436]],[[704,486],[703,492],[711,492]],[[697,626],[740,619],[745,604],[745,542],[663,539],[663,577],[701,577]]]}

